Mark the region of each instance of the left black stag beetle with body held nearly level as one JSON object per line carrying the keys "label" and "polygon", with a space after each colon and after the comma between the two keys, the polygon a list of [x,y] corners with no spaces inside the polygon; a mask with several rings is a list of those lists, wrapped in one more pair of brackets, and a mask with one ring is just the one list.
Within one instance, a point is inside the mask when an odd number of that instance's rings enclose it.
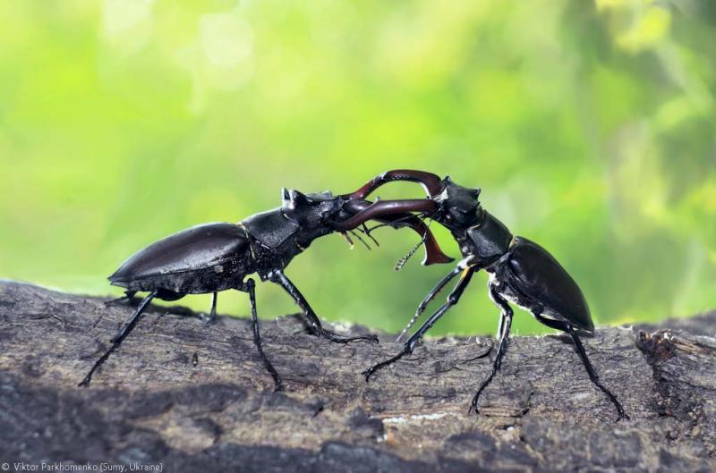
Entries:
{"label": "left black stag beetle with body held nearly level", "polygon": [[[328,191],[304,195],[298,190],[284,189],[282,195],[281,207],[251,215],[238,224],[193,226],[152,243],[128,258],[109,276],[109,282],[125,288],[125,296],[120,300],[132,300],[138,291],[147,291],[149,294],[141,300],[132,317],[111,340],[109,349],[97,360],[80,385],[90,384],[94,372],[130,334],[151,300],[178,300],[187,294],[213,293],[213,317],[216,314],[217,292],[235,289],[249,294],[253,342],[260,359],[274,379],[276,390],[282,390],[281,377],[261,348],[255,283],[252,278],[244,281],[246,276],[253,273],[258,274],[261,281],[277,283],[288,292],[308,318],[311,334],[339,343],[354,340],[378,342],[378,338],[372,334],[345,337],[323,328],[303,294],[284,274],[291,260],[307,249],[313,240],[335,231],[330,221],[341,221],[354,215],[368,208],[371,202],[334,197]],[[430,230],[414,215],[388,215],[379,221],[395,227],[409,226],[418,232],[426,243],[424,265],[452,260],[442,253]],[[346,231],[341,232],[350,241]],[[361,238],[359,234],[354,235]]]}

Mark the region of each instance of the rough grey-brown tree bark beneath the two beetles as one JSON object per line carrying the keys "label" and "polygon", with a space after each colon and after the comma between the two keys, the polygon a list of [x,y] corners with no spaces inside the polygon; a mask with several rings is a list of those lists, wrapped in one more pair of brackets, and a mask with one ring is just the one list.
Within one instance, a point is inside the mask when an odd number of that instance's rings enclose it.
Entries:
{"label": "rough grey-brown tree bark beneath the two beetles", "polygon": [[305,334],[300,317],[265,321],[264,349],[286,382],[286,393],[273,393],[247,319],[207,325],[157,306],[90,388],[78,388],[132,313],[103,302],[0,283],[3,461],[183,472],[716,471],[716,313],[584,339],[631,416],[615,423],[563,336],[514,337],[474,416],[467,408],[491,367],[490,338],[429,340],[366,384],[361,371],[398,351],[393,336],[339,345]]}

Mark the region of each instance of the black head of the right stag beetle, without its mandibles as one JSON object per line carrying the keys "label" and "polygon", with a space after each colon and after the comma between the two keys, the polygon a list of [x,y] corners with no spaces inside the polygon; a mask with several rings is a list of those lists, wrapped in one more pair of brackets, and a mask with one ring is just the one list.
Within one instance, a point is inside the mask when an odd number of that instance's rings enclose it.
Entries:
{"label": "black head of the right stag beetle, without its mandibles", "polygon": [[435,219],[451,229],[471,226],[480,207],[479,198],[479,188],[463,187],[447,176],[442,180],[440,193],[432,197],[439,204]]}

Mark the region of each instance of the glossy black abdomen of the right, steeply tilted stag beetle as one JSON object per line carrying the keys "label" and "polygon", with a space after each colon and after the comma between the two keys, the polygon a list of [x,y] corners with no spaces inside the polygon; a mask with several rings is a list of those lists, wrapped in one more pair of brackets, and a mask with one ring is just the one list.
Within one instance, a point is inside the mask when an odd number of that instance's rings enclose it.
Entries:
{"label": "glossy black abdomen of the right, steeply tilted stag beetle", "polygon": [[546,249],[517,237],[506,263],[509,285],[531,304],[544,308],[543,317],[561,318],[576,328],[593,332],[582,290]]}

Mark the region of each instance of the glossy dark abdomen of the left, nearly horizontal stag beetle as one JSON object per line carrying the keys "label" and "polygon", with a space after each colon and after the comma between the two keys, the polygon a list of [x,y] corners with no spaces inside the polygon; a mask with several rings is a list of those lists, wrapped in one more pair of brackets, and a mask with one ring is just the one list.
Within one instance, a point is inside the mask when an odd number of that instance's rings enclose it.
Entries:
{"label": "glossy dark abdomen of the left, nearly horizontal stag beetle", "polygon": [[132,291],[222,291],[240,283],[227,275],[248,269],[243,267],[248,245],[239,225],[193,226],[140,249],[109,276],[109,282]]}

